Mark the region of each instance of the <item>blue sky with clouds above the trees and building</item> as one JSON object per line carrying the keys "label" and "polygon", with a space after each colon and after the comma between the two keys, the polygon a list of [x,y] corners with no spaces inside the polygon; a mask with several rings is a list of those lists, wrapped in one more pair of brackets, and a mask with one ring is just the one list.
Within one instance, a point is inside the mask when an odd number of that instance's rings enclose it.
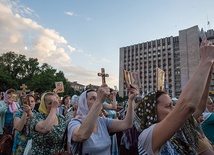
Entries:
{"label": "blue sky with clouds above the trees and building", "polygon": [[[80,84],[119,86],[119,49],[198,25],[214,26],[213,0],[0,0],[0,55],[48,63]],[[210,23],[209,25],[207,23]]]}

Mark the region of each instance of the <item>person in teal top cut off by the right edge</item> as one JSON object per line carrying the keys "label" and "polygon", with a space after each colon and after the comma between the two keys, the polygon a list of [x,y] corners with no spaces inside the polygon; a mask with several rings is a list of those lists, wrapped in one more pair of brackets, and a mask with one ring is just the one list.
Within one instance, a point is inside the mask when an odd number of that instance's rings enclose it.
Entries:
{"label": "person in teal top cut off by the right edge", "polygon": [[201,124],[202,130],[206,137],[211,141],[214,146],[214,103],[211,97],[208,97],[206,110],[203,112],[204,121]]}

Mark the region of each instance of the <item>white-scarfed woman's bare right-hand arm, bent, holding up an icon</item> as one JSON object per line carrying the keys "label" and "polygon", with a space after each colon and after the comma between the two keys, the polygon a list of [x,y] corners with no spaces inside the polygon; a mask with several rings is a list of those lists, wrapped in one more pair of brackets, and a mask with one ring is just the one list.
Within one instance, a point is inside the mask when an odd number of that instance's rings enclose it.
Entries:
{"label": "white-scarfed woman's bare right-hand arm, bent, holding up an icon", "polygon": [[134,99],[138,94],[138,90],[136,88],[131,88],[129,90],[129,100],[128,100],[128,108],[126,112],[126,116],[124,120],[114,119],[112,121],[112,125],[109,128],[110,132],[119,132],[124,131],[133,126],[134,120]]}

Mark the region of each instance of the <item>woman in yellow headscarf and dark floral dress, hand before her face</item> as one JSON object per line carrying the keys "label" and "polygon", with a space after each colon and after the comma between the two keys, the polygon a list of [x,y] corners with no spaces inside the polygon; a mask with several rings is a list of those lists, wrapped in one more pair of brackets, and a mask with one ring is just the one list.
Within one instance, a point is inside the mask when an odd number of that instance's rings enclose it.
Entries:
{"label": "woman in yellow headscarf and dark floral dress, hand before her face", "polygon": [[30,126],[31,155],[52,155],[56,150],[61,149],[66,122],[64,116],[56,115],[58,106],[59,100],[54,93],[42,95],[40,113],[33,115]]}

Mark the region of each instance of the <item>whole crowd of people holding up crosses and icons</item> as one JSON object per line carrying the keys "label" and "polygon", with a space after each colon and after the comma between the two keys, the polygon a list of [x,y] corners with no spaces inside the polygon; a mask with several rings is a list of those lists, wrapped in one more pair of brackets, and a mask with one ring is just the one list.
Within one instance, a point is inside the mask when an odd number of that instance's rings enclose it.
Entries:
{"label": "whole crowd of people holding up crosses and icons", "polygon": [[121,110],[105,83],[62,100],[54,89],[15,102],[8,89],[0,101],[0,155],[212,155],[214,46],[206,39],[200,56],[176,104],[162,90],[142,97],[134,85]]}

